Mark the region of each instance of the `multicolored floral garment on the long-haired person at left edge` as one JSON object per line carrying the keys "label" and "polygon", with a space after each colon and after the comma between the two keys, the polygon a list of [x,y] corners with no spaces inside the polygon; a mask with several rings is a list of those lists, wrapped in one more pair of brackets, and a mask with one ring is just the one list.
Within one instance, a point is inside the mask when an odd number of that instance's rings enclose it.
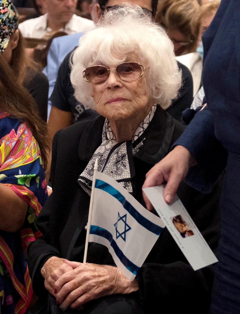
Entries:
{"label": "multicolored floral garment on the long-haired person at left edge", "polygon": [[26,248],[41,235],[36,217],[47,189],[38,143],[25,123],[5,113],[0,113],[0,184],[29,205],[19,231],[0,230],[0,312],[23,314],[33,294]]}

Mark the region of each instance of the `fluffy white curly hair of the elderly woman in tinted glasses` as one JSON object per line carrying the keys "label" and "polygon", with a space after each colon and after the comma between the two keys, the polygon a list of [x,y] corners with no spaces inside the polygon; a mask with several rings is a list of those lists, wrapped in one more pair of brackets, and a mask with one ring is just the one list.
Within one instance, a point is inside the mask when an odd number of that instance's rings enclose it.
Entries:
{"label": "fluffy white curly hair of the elderly woman in tinted glasses", "polygon": [[147,68],[144,76],[151,98],[163,109],[168,108],[181,86],[173,44],[161,26],[139,6],[129,3],[104,13],[96,28],[80,38],[70,58],[76,99],[95,110],[92,84],[85,82],[83,71],[92,65],[115,67],[129,55]]}

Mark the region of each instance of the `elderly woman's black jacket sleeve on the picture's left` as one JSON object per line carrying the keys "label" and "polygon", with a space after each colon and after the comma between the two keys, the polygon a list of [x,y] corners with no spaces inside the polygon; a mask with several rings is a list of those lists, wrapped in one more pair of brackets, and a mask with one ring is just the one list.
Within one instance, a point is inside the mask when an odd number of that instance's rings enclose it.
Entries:
{"label": "elderly woman's black jacket sleeve on the picture's left", "polygon": [[[52,194],[44,204],[37,219],[43,236],[34,241],[28,250],[29,272],[36,295],[46,294],[41,268],[51,256],[63,257],[60,236],[66,224],[68,205],[72,202],[73,182],[79,176],[78,145],[81,134],[89,121],[57,131],[52,143]],[[64,160],[64,171],[63,171]],[[58,184],[55,184],[57,181]],[[64,192],[63,192],[64,191]],[[69,205],[70,206],[70,205]]]}

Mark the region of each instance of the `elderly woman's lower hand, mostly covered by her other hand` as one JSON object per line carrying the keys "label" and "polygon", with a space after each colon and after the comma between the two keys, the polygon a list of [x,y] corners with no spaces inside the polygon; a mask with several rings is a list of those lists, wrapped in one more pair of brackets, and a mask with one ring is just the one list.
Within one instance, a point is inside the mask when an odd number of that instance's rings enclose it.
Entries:
{"label": "elderly woman's lower hand, mostly covered by her other hand", "polygon": [[54,296],[54,284],[57,279],[69,270],[73,270],[73,268],[70,265],[64,263],[64,261],[66,261],[66,259],[52,256],[41,268],[41,274],[45,279],[45,288]]}

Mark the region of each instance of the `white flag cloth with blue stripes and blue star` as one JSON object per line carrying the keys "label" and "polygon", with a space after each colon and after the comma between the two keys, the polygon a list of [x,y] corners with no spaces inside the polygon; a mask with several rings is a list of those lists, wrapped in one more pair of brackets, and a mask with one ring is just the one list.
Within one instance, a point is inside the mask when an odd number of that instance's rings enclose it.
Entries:
{"label": "white flag cloth with blue stripes and blue star", "polygon": [[129,280],[134,280],[164,226],[117,181],[96,173],[89,241],[106,246]]}

